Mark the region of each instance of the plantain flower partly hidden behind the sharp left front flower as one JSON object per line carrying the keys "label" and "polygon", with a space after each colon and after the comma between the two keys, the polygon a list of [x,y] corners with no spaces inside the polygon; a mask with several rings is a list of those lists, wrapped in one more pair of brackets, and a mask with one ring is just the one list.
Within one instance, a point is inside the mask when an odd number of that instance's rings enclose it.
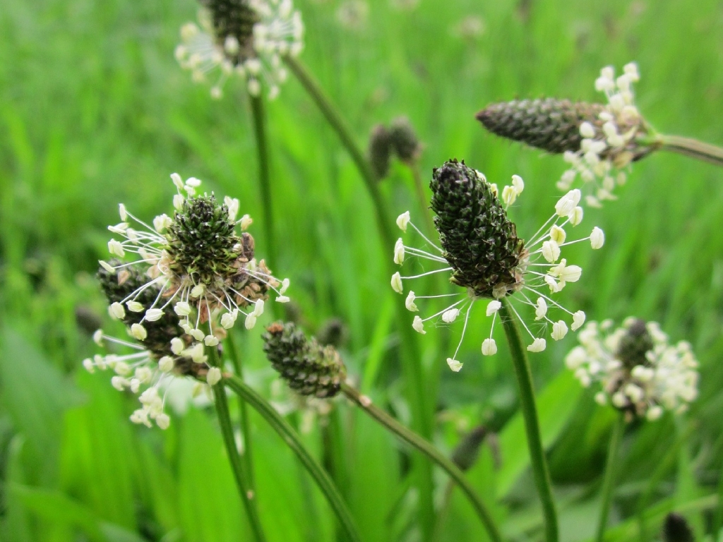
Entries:
{"label": "plantain flower partly hidden behind the sharp left front flower", "polygon": [[[124,311],[121,317],[129,335],[133,335],[137,340],[122,340],[106,335],[103,330],[96,331],[93,339],[98,346],[111,343],[134,350],[134,353],[111,353],[106,356],[98,354],[85,359],[83,366],[91,373],[96,369],[110,369],[115,373],[111,384],[116,390],[130,390],[140,394],[142,406],[134,411],[131,421],[148,427],[155,421],[158,427],[167,429],[171,419],[164,412],[166,395],[164,393],[161,396],[161,390],[167,389],[175,377],[192,377],[200,382],[208,381],[213,384],[218,377],[215,374],[218,369],[212,369],[206,364],[202,343],[194,343],[193,337],[181,329],[179,319],[172,311],[140,324],[158,297],[158,285],[145,287],[147,277],[142,270],[137,267],[123,267],[119,261],[113,263],[118,266],[117,270],[100,267],[98,280],[111,306],[137,292],[133,301],[137,305],[134,305],[134,308],[142,310]],[[142,329],[140,334],[137,331],[139,329]],[[200,382],[199,385],[202,385]]]}

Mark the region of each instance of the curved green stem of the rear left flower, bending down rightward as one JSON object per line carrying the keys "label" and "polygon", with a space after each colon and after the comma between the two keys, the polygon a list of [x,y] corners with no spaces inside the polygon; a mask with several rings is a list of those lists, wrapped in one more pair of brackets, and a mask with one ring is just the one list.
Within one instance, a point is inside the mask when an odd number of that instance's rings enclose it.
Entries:
{"label": "curved green stem of the rear left flower, bending down rightward", "polygon": [[354,520],[351,517],[346,504],[344,503],[338,489],[334,486],[333,481],[329,478],[328,473],[322,468],[321,465],[314,459],[314,457],[304,447],[304,443],[299,439],[299,435],[296,434],[294,429],[284,420],[281,415],[274,410],[267,400],[254,392],[251,387],[247,386],[243,380],[239,379],[231,374],[223,375],[223,382],[231,388],[239,397],[247,401],[254,410],[266,420],[266,422],[276,431],[283,442],[291,448],[299,457],[301,463],[307,469],[307,472],[314,478],[319,486],[319,489],[325,494],[331,508],[333,509],[336,517],[341,526],[348,536],[348,539],[352,542],[361,542],[361,537],[356,531]]}

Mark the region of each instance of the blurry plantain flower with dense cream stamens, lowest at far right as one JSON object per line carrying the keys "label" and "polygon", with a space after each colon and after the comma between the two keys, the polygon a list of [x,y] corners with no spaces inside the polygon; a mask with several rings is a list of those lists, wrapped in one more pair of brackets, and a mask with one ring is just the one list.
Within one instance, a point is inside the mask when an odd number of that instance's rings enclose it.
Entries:
{"label": "blurry plantain flower with dense cream stamens, lowest at far right", "polygon": [[698,395],[698,362],[690,343],[669,343],[656,322],[628,318],[589,322],[565,364],[584,387],[599,382],[595,400],[623,410],[626,417],[656,420],[664,410],[682,413]]}

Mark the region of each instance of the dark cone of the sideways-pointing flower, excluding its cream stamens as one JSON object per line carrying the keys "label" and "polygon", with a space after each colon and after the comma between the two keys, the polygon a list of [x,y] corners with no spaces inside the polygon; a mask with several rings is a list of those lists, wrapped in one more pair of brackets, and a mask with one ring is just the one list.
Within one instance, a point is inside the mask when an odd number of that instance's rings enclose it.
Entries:
{"label": "dark cone of the sideways-pointing flower, excluding its cream stamens", "polygon": [[477,113],[477,120],[500,137],[513,139],[552,154],[580,150],[580,125],[602,126],[599,103],[544,98],[492,103]]}

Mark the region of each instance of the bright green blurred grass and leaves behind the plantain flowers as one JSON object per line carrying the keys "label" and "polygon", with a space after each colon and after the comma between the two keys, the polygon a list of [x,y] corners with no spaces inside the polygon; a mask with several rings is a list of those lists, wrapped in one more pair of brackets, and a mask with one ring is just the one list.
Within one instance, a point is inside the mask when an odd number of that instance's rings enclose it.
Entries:
{"label": "bright green blurred grass and leaves behind the plantain flowers", "polygon": [[[559,96],[598,100],[599,69],[638,61],[643,114],[662,132],[723,144],[723,7],[718,1],[568,2],[422,0],[401,10],[369,2],[359,28],[340,25],[338,1],[299,1],[307,27],[302,61],[340,106],[361,145],[378,122],[405,115],[424,142],[421,167],[465,159],[489,181],[526,181],[511,211],[521,236],[536,231],[558,197],[559,157],[484,132],[474,113],[492,101]],[[241,85],[223,100],[193,85],[173,58],[191,0],[5,0],[0,7],[0,539],[3,541],[238,541],[247,525],[208,410],[172,416],[162,432],[132,426],[136,398],[108,374],[86,374],[96,348],[77,312],[108,330],[93,279],[106,257],[106,225],[124,202],[150,219],[169,212],[178,171],[241,201],[255,219],[257,254],[268,249],[250,114]],[[467,17],[482,35],[458,31]],[[296,318],[315,332],[348,327],[349,373],[377,403],[408,422],[392,298],[372,205],[335,134],[289,80],[268,106],[273,225],[291,278]],[[665,512],[684,512],[702,539],[723,514],[723,183],[712,165],[675,155],[636,163],[620,199],[587,210],[601,251],[570,251],[583,279],[565,304],[589,319],[636,315],[689,340],[701,361],[700,397],[688,415],[628,429],[617,465],[610,540],[656,540]],[[393,212],[419,216],[411,173],[395,164],[382,191]],[[418,220],[418,222],[422,222]],[[428,288],[439,289],[430,281]],[[416,289],[416,288],[415,288]],[[419,293],[419,292],[418,292]],[[469,476],[494,504],[505,535],[538,540],[541,517],[529,473],[513,374],[500,353],[482,358],[482,311],[451,373],[445,358],[459,326],[418,337],[435,410],[435,443],[449,451],[465,429],[498,433]],[[264,323],[268,323],[266,317]],[[409,316],[411,324],[411,315]],[[249,382],[271,397],[260,327],[241,334]],[[607,436],[614,416],[565,372],[568,335],[531,358],[562,538],[594,532]],[[283,395],[283,394],[282,394]],[[278,393],[275,399],[281,401]],[[364,539],[416,541],[418,495],[408,450],[340,402],[330,418],[291,420],[320,455],[337,444],[335,478]],[[252,416],[262,522],[271,541],[341,540],[333,516],[273,431]],[[443,500],[440,473],[436,499]],[[641,535],[641,502],[648,508]],[[647,504],[646,504],[647,503]],[[485,540],[458,492],[441,540]]]}

